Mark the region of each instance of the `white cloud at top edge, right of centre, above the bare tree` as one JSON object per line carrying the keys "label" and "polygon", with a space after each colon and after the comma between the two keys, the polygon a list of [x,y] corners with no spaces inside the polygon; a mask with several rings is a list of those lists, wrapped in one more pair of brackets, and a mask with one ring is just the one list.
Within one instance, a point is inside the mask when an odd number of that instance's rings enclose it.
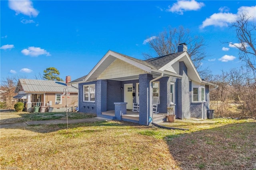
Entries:
{"label": "white cloud at top edge, right of centre, above the bare tree", "polygon": [[196,11],[204,6],[202,2],[196,2],[195,0],[179,0],[177,3],[174,3],[173,6],[169,6],[167,11],[177,12],[180,15],[183,15],[184,11]]}

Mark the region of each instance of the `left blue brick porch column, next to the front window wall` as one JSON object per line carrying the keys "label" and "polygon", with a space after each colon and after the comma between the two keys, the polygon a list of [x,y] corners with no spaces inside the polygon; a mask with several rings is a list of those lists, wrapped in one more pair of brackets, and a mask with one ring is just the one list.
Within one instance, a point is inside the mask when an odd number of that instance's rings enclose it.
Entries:
{"label": "left blue brick porch column, next to the front window wall", "polygon": [[96,113],[99,116],[101,112],[107,111],[107,81],[97,80],[95,90]]}

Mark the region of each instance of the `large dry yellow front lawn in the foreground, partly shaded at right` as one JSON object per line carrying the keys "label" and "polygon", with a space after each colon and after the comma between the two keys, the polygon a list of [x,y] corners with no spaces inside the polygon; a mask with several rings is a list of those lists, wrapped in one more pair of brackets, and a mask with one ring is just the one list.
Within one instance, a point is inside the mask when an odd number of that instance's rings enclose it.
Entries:
{"label": "large dry yellow front lawn in the foreground, partly shaded at right", "polygon": [[1,167],[20,169],[256,169],[256,121],[176,120],[189,131],[103,121],[1,129]]}

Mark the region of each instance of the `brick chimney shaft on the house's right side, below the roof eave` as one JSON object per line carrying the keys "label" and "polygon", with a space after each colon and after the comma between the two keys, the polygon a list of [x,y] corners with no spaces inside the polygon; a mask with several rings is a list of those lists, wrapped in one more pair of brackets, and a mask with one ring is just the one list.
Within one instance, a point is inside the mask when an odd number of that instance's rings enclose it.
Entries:
{"label": "brick chimney shaft on the house's right side, below the roof eave", "polygon": [[182,79],[178,79],[178,106],[177,117],[180,119],[190,118],[190,95],[189,95],[189,80],[188,71],[185,63],[180,61],[180,75]]}

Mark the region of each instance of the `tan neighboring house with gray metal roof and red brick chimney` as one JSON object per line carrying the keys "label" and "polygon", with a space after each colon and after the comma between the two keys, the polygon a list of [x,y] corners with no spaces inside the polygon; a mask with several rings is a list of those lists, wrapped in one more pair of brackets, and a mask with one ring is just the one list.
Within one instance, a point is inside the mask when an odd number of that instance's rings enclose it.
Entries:
{"label": "tan neighboring house with gray metal roof and red brick chimney", "polygon": [[[33,112],[34,106],[52,107],[53,112],[66,111],[66,104],[68,108],[78,105],[78,85],[67,85],[70,81],[70,76],[66,76],[66,82],[19,79],[15,89],[18,95],[14,98],[26,103],[28,112]],[[63,95],[65,91],[69,95]]]}

